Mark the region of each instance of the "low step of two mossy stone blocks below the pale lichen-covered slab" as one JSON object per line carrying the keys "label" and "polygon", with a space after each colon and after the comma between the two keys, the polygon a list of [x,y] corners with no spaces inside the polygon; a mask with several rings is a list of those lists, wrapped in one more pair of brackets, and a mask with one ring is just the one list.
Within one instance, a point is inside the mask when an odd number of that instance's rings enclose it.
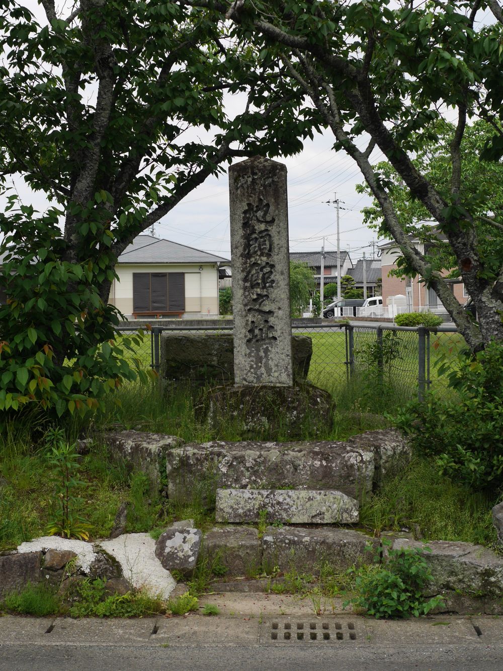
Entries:
{"label": "low step of two mossy stone blocks below the pale lichen-covered slab", "polygon": [[[201,555],[217,566],[223,580],[261,574],[296,571],[319,575],[325,564],[335,571],[372,563],[378,539],[339,527],[268,526],[261,536],[254,527],[228,524],[213,527],[203,535]],[[225,572],[225,573],[224,573]]]}

